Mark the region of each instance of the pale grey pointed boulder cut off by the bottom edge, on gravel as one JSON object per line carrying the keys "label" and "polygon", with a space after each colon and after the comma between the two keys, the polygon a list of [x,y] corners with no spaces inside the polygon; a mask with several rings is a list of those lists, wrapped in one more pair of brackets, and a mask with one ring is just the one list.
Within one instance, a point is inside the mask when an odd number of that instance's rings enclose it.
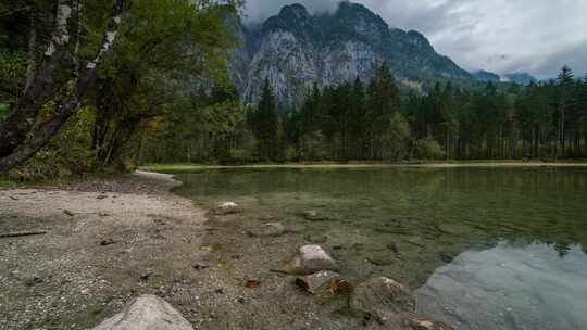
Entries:
{"label": "pale grey pointed boulder cut off by the bottom edge, on gravel", "polygon": [[193,330],[164,300],[147,294],[107,319],[93,330]]}

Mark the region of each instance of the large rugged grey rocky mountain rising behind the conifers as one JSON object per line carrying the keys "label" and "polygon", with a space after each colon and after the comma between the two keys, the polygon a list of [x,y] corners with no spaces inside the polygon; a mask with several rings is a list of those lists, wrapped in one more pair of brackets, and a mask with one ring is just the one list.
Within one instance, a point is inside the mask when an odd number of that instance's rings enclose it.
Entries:
{"label": "large rugged grey rocky mountain rising behind the conifers", "polygon": [[417,31],[390,28],[365,7],[341,2],[329,14],[312,15],[301,4],[284,7],[257,27],[241,26],[243,45],[228,68],[246,102],[254,102],[270,79],[279,103],[292,104],[315,82],[333,86],[366,80],[387,62],[407,84],[473,76],[438,54]]}

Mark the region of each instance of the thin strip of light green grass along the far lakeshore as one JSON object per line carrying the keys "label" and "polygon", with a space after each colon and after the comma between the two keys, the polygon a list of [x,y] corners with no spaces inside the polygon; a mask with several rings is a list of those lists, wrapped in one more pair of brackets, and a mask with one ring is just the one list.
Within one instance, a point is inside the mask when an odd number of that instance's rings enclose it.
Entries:
{"label": "thin strip of light green grass along the far lakeshore", "polygon": [[146,164],[140,166],[147,172],[191,172],[218,168],[361,168],[361,167],[587,167],[587,161],[413,161],[403,163],[383,162],[315,162],[315,163],[282,163],[282,164],[248,164],[248,165],[210,165],[197,163],[177,164]]}

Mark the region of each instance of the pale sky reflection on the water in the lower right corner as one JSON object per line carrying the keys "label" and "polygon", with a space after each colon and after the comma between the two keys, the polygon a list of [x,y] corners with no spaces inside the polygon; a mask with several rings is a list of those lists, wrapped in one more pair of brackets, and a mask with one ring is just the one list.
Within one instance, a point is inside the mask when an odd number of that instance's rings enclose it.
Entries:
{"label": "pale sky reflection on the water in the lower right corner", "polygon": [[587,329],[587,256],[500,242],[460,254],[416,295],[422,313],[455,329]]}

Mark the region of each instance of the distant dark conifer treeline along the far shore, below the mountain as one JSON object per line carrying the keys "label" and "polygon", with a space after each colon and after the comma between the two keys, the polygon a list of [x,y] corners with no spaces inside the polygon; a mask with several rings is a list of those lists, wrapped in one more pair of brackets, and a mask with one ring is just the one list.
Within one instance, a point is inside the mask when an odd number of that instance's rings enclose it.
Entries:
{"label": "distant dark conifer treeline along the far shore, below the mountain", "polygon": [[145,161],[587,157],[587,77],[574,78],[566,66],[527,87],[447,82],[401,92],[384,64],[366,84],[314,86],[299,107],[279,107],[268,81],[254,107],[239,105],[234,88],[197,99],[149,141]]}

